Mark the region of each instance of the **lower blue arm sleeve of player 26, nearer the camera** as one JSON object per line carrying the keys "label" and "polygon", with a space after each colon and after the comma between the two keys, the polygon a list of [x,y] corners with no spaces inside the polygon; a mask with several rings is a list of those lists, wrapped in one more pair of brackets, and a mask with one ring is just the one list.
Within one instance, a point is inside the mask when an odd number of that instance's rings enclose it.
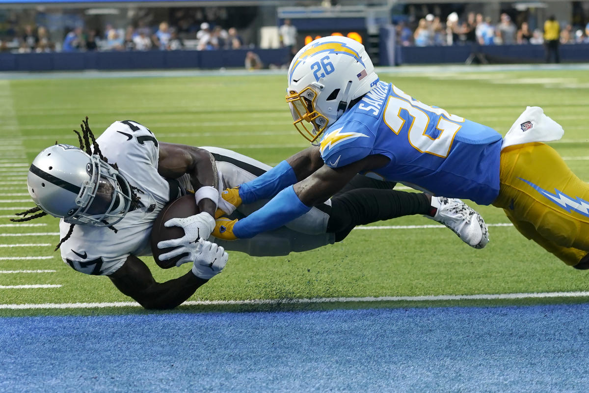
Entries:
{"label": "lower blue arm sleeve of player 26, nearer the camera", "polygon": [[253,212],[244,219],[239,220],[233,226],[233,235],[239,239],[254,237],[260,232],[276,229],[297,217],[309,212],[311,208],[300,202],[290,186],[278,193],[262,209]]}

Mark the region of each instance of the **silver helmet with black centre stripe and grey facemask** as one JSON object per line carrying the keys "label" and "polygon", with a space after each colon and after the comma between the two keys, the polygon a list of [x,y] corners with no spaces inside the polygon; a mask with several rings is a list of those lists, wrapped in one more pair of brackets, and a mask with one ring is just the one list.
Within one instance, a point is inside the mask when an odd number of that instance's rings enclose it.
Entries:
{"label": "silver helmet with black centre stripe and grey facemask", "polygon": [[96,154],[67,144],[48,147],[35,157],[27,186],[37,206],[71,224],[111,226],[131,206],[131,187],[117,170]]}

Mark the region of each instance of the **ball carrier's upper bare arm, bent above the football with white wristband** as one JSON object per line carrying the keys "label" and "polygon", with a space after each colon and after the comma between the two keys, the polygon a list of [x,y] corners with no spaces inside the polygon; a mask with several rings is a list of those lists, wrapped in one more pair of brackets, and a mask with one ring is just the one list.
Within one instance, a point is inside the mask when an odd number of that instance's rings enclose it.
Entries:
{"label": "ball carrier's upper bare arm, bent above the football with white wristband", "polygon": [[[168,179],[190,174],[194,190],[201,187],[217,189],[217,166],[211,153],[198,147],[160,142],[158,173]],[[218,197],[217,197],[218,199]],[[217,200],[203,198],[198,202],[201,212],[214,216]]]}

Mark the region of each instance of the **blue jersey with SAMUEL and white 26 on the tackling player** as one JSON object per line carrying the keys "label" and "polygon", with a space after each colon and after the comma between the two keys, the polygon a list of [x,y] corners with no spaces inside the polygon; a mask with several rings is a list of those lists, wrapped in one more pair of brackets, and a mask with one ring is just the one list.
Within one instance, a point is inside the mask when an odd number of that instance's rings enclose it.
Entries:
{"label": "blue jersey with SAMUEL and white 26 on the tackling player", "polygon": [[386,82],[324,131],[323,161],[342,167],[371,154],[391,161],[373,172],[437,195],[492,203],[499,193],[497,131],[425,105]]}

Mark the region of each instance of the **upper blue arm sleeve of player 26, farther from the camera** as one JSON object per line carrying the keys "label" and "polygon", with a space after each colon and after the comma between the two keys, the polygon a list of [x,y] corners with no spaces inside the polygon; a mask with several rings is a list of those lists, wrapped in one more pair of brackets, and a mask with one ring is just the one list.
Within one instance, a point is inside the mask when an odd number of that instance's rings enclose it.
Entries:
{"label": "upper blue arm sleeve of player 26, farther from the camera", "polygon": [[294,174],[293,167],[285,160],[262,176],[241,184],[239,187],[239,197],[242,203],[253,203],[260,199],[270,199],[296,182],[296,174]]}

